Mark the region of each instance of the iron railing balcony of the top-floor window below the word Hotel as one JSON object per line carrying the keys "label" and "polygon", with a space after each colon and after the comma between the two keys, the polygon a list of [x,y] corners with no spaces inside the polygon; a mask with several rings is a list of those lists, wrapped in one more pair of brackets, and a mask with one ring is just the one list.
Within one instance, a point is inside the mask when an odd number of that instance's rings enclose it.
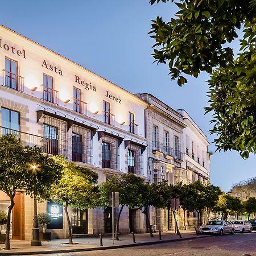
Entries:
{"label": "iron railing balcony of the top-floor window below the word Hotel", "polygon": [[24,92],[24,77],[11,73],[3,69],[3,86],[6,86],[19,92]]}

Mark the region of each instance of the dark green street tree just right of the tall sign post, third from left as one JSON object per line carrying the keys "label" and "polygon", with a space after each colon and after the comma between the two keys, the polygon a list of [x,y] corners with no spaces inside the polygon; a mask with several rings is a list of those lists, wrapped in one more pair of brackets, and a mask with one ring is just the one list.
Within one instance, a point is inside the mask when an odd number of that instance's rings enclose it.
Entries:
{"label": "dark green street tree just right of the tall sign post, third from left", "polygon": [[123,207],[125,207],[125,205],[127,205],[127,207],[136,207],[139,205],[141,201],[140,188],[143,183],[144,180],[141,177],[134,174],[122,174],[121,176],[113,176],[100,185],[101,196],[106,205],[108,205],[109,202],[109,195],[112,192],[119,192],[119,204],[121,208],[119,209],[117,224],[115,225],[116,240],[119,240],[119,219]]}

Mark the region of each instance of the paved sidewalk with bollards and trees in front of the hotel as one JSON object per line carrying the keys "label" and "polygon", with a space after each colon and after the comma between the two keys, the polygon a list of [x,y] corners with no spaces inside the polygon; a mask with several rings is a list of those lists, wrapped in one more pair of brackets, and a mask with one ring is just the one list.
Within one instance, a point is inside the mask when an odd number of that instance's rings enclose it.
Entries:
{"label": "paved sidewalk with bollards and trees in front of the hotel", "polygon": [[11,240],[11,250],[5,251],[5,245],[0,245],[0,255],[34,255],[34,254],[53,254],[53,253],[71,253],[75,251],[91,251],[91,250],[106,250],[130,246],[148,245],[154,243],[175,242],[182,240],[191,240],[209,236],[196,236],[191,230],[181,230],[181,236],[175,236],[174,232],[163,232],[162,240],[159,240],[159,234],[154,233],[154,237],[150,234],[135,234],[136,243],[133,242],[131,234],[119,236],[119,241],[112,242],[112,236],[103,237],[103,247],[100,246],[99,237],[83,237],[74,238],[73,245],[68,244],[68,239],[57,239],[49,242],[42,242],[42,246],[31,246],[30,241]]}

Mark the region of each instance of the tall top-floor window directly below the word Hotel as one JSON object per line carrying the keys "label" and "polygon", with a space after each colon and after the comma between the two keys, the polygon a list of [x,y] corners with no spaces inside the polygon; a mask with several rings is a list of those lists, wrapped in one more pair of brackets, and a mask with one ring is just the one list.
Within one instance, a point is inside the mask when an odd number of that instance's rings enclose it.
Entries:
{"label": "tall top-floor window directly below the word Hotel", "polygon": [[18,63],[7,57],[5,58],[5,85],[18,90]]}

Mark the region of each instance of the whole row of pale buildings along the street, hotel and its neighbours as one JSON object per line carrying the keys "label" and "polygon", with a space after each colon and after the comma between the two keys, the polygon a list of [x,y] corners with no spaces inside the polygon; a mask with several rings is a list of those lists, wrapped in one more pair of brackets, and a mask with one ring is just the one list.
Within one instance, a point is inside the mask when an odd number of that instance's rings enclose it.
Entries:
{"label": "whole row of pale buildings along the street, hotel and its neighbours", "polygon": [[[97,172],[99,184],[127,172],[169,184],[208,180],[208,142],[184,110],[175,111],[151,94],[127,92],[4,26],[0,71],[1,134],[19,134],[24,145],[36,144],[47,154],[90,168]],[[193,141],[190,146],[187,136]],[[0,209],[9,204],[0,191]],[[33,209],[31,197],[18,191],[13,239],[31,240]],[[68,236],[61,205],[40,203],[38,212],[53,216],[55,221],[47,226],[52,238]],[[74,235],[112,232],[111,208],[69,208],[69,213]],[[150,216],[154,229],[171,229],[166,210],[152,209]],[[124,208],[119,230],[144,232],[144,214]]]}

